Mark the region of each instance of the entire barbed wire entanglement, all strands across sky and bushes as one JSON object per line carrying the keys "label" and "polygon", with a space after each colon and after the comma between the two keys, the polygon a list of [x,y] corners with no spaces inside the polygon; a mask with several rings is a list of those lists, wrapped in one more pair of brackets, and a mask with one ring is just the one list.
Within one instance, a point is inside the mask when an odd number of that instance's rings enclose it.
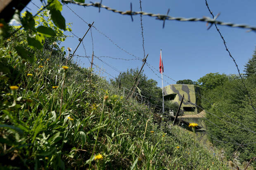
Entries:
{"label": "entire barbed wire entanglement, all strands across sky and bushes", "polygon": [[[132,12],[132,10],[130,11],[126,11],[126,12],[121,12],[121,11],[118,11],[116,9],[111,9],[110,7],[107,7],[107,6],[104,6],[98,2],[96,3],[90,3],[90,4],[87,4],[87,3],[80,3],[80,2],[74,2],[74,1],[69,1],[69,0],[64,0],[64,2],[69,2],[69,3],[75,3],[75,4],[78,4],[78,5],[82,5],[82,6],[93,6],[93,7],[99,7],[99,8],[105,8],[107,10],[110,10],[110,11],[113,11],[113,12],[116,12],[116,13],[119,13],[119,14],[125,14],[125,15],[137,15],[137,14],[140,14],[140,24],[141,24],[141,34],[142,34],[142,48],[143,48],[143,53],[144,53],[144,58],[145,58],[145,48],[144,48],[144,35],[143,35],[143,26],[142,26],[142,15],[147,15],[147,16],[152,16],[152,17],[156,17],[157,19],[160,19],[160,20],[178,20],[178,21],[204,21],[204,22],[209,22],[209,23],[212,23],[215,25],[216,27],[216,30],[218,31],[218,33],[220,34],[220,37],[222,38],[223,40],[223,43],[225,45],[225,48],[226,50],[228,51],[229,53],[229,56],[232,58],[232,60],[234,61],[236,67],[237,67],[237,70],[238,70],[238,73],[239,73],[239,76],[242,80],[242,83],[244,85],[244,88],[246,89],[247,91],[247,94],[249,95],[249,99],[250,99],[250,102],[251,102],[251,106],[253,107],[253,109],[255,110],[253,104],[252,104],[252,100],[251,100],[251,96],[247,90],[247,87],[245,86],[244,84],[244,81],[243,81],[243,78],[239,72],[239,68],[237,66],[237,63],[235,62],[235,59],[232,57],[232,55],[230,54],[230,51],[228,50],[228,47],[226,46],[226,42],[224,40],[224,37],[223,35],[220,33],[220,30],[218,29],[217,25],[216,24],[219,24],[219,25],[226,25],[226,26],[231,26],[231,27],[240,27],[240,28],[247,28],[247,29],[250,29],[250,30],[256,30],[255,27],[251,27],[251,26],[247,26],[247,25],[242,25],[242,24],[234,24],[234,23],[224,23],[224,22],[221,22],[221,21],[216,21],[216,19],[214,18],[214,15],[213,13],[211,12],[210,8],[209,8],[209,5],[207,3],[207,0],[205,0],[206,2],[206,6],[207,8],[209,9],[209,12],[211,13],[213,19],[210,19],[208,17],[204,17],[204,18],[201,18],[201,19],[197,19],[197,18],[190,18],[190,19],[186,19],[186,18],[181,18],[181,17],[172,17],[172,16],[168,16],[168,15],[161,15],[161,14],[152,14],[152,13],[146,13],[146,12],[142,12],[142,7],[141,7],[141,0],[140,0],[140,12]],[[33,2],[32,2],[33,3]],[[34,3],[33,3],[34,4]],[[65,3],[63,3],[66,7],[68,7],[76,16],[78,16],[83,22],[87,23],[81,16],[79,16],[78,14],[76,14],[76,12],[74,12],[68,5],[66,5]],[[35,4],[34,4],[35,5]],[[35,5],[37,6],[37,5]],[[38,7],[38,6],[37,6]],[[39,7],[38,7],[39,8]],[[88,24],[88,23],[87,23]],[[128,51],[124,50],[123,48],[121,48],[118,44],[114,43],[112,41],[111,38],[109,38],[107,35],[105,35],[104,33],[102,33],[99,29],[97,29],[95,26],[92,26],[92,28],[94,28],[95,30],[97,30],[97,32],[101,33],[102,35],[104,35],[108,40],[110,40],[114,45],[116,45],[116,47],[118,47],[119,49],[121,49],[122,51],[126,52],[127,54],[133,56],[134,58],[131,58],[131,59],[126,59],[126,58],[122,58],[122,57],[113,57],[113,56],[96,56],[94,55],[95,58],[97,58],[100,62],[104,63],[105,65],[108,65],[112,70],[118,72],[118,73],[121,73],[122,71],[115,68],[114,66],[112,66],[111,64],[109,64],[108,62],[106,61],[103,61],[102,58],[111,58],[111,59],[115,59],[115,60],[123,60],[123,61],[132,61],[132,60],[137,60],[137,61],[142,61],[142,58],[139,58],[137,56],[135,56],[134,54],[131,54],[129,53]],[[91,40],[92,40],[92,53],[94,53],[94,44],[93,44],[93,36],[92,36],[92,30],[90,30],[90,33],[91,33]],[[79,38],[77,35],[75,35],[73,32],[71,32],[71,34],[73,34],[75,37]],[[83,44],[83,49],[85,51],[85,56],[79,56],[79,55],[74,55],[74,56],[77,56],[77,57],[84,57],[84,58],[87,58],[89,63],[91,63],[92,65],[94,65],[97,69],[100,69],[102,72],[106,73],[109,77],[112,77],[113,79],[116,79],[116,76],[114,75],[111,75],[109,72],[107,72],[106,70],[102,69],[100,66],[96,65],[95,63],[91,62],[89,58],[91,58],[92,56],[87,56],[86,55],[86,49],[85,49],[85,45],[82,41],[82,44]],[[159,78],[161,79],[161,77],[156,73],[158,72],[158,70],[156,68],[154,68],[154,66],[150,65],[149,63],[145,62],[145,64],[147,65],[147,67]],[[169,77],[168,75],[165,75],[163,74],[165,77],[167,77],[168,79],[170,79],[171,81],[175,82],[176,81],[174,79],[172,79],[171,77]],[[134,80],[130,80],[130,81],[134,81]],[[167,84],[170,84],[168,81],[164,80]],[[121,86],[121,89],[123,89],[123,95],[126,95],[128,93],[128,91],[130,91],[129,88],[126,88],[124,87],[124,85]],[[196,91],[193,91],[191,89],[189,89],[190,91],[194,92],[194,93],[197,93],[198,95],[201,96],[201,98],[204,98],[207,102],[209,102],[211,105],[213,105],[213,103],[211,103],[207,98],[205,98],[203,95],[201,95],[200,93],[196,92]],[[127,91],[127,93],[126,93]],[[144,93],[144,94],[147,94],[147,93]],[[139,96],[139,102],[141,103],[144,103],[145,105],[148,105],[149,107],[154,107],[154,108],[157,108],[161,111],[162,109],[162,105],[158,105],[158,102],[162,102],[161,98],[155,98],[155,96],[153,95],[150,95],[150,94],[147,94],[147,95],[141,95],[141,93],[137,93],[137,92],[134,92],[134,96]],[[155,103],[151,103],[150,101],[151,100],[154,100]],[[227,113],[225,113],[221,108],[218,108],[216,107],[216,109],[218,109],[226,118],[228,118],[229,120],[227,119],[224,119],[223,117],[220,117],[218,116],[217,114],[213,113],[213,112],[209,112],[207,111],[206,109],[202,108],[200,105],[197,105],[195,103],[192,103],[190,101],[188,101],[186,98],[184,98],[184,100],[188,103],[190,103],[191,105],[194,105],[202,110],[204,110],[207,114],[209,115],[212,115],[216,118],[218,118],[220,121],[223,121],[224,123],[228,123],[230,126],[235,126],[239,129],[242,129],[242,130],[245,130],[249,133],[256,133],[254,130],[251,130],[251,128],[247,127],[247,125],[245,125],[244,123],[232,118],[231,116],[229,116]],[[196,112],[196,110],[194,110],[194,112]],[[224,141],[224,140],[219,140],[217,139],[216,137],[212,137],[214,139],[214,141],[216,142],[223,142],[223,143],[228,143],[228,144],[236,144],[236,145],[249,145],[249,144],[256,144],[256,142],[250,142],[250,143],[238,143],[236,142],[237,140],[235,140],[234,138],[230,137],[230,135],[228,135],[228,132],[225,131],[225,129],[223,129],[222,127],[216,125],[216,123],[213,123],[211,120],[207,119],[204,115],[202,115],[201,113],[198,113],[197,116],[201,116],[202,119],[205,119],[206,121],[208,121],[209,123],[212,123],[214,126],[216,126],[216,128],[218,128],[221,132],[225,133],[226,136],[232,140],[233,142],[227,142],[227,141]],[[180,118],[181,119],[181,118]],[[236,123],[233,123],[233,122],[236,122]],[[242,125],[242,126],[240,126]],[[203,127],[206,129],[206,133],[207,132],[207,127]]]}

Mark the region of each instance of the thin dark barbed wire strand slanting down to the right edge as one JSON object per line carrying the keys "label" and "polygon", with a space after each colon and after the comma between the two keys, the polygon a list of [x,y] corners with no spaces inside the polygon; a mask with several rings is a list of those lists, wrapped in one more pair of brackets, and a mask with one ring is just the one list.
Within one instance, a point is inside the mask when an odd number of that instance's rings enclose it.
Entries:
{"label": "thin dark barbed wire strand slanting down to the right edge", "polygon": [[[209,10],[211,16],[214,18],[213,12],[211,12],[211,9],[209,8],[209,5],[208,5],[208,3],[207,3],[207,0],[205,0],[205,4],[206,4],[206,7],[208,8],[208,10]],[[218,16],[218,15],[217,15],[217,16]],[[226,44],[226,42],[225,42],[225,40],[224,40],[224,37],[223,37],[223,35],[220,33],[220,30],[218,29],[216,23],[214,23],[214,25],[215,25],[216,30],[217,30],[218,33],[220,34],[221,39],[223,40],[223,43],[224,43],[225,48],[226,48],[226,51],[228,51],[229,56],[232,58],[232,60],[233,60],[234,63],[235,63],[235,66],[236,66],[236,68],[237,68],[238,74],[239,74],[239,76],[240,76],[240,78],[241,78],[241,80],[242,80],[242,84],[243,84],[243,86],[244,86],[244,88],[245,88],[245,91],[246,91],[246,93],[247,93],[247,95],[248,95],[248,97],[249,97],[249,100],[250,100],[250,102],[251,102],[251,107],[254,109],[254,111],[255,111],[255,113],[256,113],[256,109],[255,109],[254,105],[252,104],[251,95],[249,94],[249,91],[247,90],[247,87],[246,87],[245,84],[244,84],[244,79],[243,79],[242,75],[240,74],[240,70],[239,70],[238,65],[237,65],[237,63],[236,63],[236,61],[235,61],[235,58],[230,54],[230,51],[228,50],[227,44]],[[252,30],[255,31],[255,29],[252,29]]]}

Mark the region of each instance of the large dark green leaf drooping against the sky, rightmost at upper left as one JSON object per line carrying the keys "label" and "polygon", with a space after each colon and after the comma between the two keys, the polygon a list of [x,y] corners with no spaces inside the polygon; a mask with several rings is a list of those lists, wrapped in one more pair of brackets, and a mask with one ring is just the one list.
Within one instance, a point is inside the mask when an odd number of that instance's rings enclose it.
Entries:
{"label": "large dark green leaf drooping against the sky, rightmost at upper left", "polygon": [[66,30],[66,23],[65,19],[60,13],[59,10],[50,9],[50,18],[52,19],[53,23],[60,29]]}

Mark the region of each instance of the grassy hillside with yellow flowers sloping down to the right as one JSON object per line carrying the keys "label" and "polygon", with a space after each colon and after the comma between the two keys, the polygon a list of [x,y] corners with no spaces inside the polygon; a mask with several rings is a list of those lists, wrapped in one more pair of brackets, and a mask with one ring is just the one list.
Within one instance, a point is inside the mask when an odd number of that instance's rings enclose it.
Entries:
{"label": "grassy hillside with yellow flowers sloping down to the right", "polygon": [[49,42],[31,50],[33,63],[19,42],[0,47],[0,169],[226,169],[193,133],[154,123],[147,106]]}

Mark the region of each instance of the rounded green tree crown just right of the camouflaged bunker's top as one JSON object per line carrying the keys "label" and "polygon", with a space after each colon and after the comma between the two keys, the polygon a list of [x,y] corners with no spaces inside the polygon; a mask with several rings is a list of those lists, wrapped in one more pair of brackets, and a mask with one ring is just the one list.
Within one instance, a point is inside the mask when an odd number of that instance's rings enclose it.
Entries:
{"label": "rounded green tree crown just right of the camouflaged bunker's top", "polygon": [[228,76],[225,74],[220,75],[218,72],[206,74],[197,80],[203,90],[209,90],[222,85],[228,80]]}

